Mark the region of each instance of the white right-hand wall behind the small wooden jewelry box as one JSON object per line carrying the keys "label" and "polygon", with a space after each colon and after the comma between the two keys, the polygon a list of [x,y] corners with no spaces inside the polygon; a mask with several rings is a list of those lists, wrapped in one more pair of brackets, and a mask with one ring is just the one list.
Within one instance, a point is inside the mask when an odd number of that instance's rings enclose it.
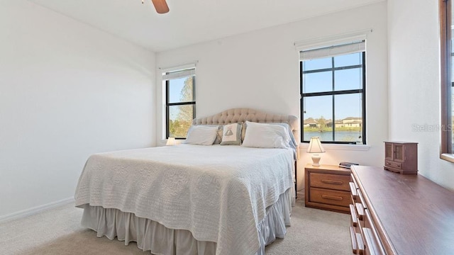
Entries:
{"label": "white right-hand wall behind the small wooden jewelry box", "polygon": [[[454,164],[439,158],[438,0],[388,0],[389,138],[419,142],[419,174],[454,190]],[[427,128],[416,132],[414,125]]]}

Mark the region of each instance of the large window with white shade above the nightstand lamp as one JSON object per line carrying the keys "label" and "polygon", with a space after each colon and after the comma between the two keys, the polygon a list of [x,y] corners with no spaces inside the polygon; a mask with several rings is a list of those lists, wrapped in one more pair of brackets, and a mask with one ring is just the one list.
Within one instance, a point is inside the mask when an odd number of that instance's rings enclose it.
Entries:
{"label": "large window with white shade above the nightstand lamp", "polygon": [[365,41],[300,52],[301,142],[365,144]]}

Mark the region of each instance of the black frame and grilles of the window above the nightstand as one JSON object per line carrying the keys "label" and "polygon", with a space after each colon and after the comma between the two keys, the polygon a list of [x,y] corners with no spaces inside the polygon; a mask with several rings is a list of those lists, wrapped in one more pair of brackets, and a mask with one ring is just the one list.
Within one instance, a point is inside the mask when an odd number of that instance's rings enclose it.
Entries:
{"label": "black frame and grilles of the window above the nightstand", "polygon": [[[361,52],[361,57],[362,57],[362,64],[355,64],[355,65],[350,65],[350,66],[345,66],[345,67],[335,67],[334,66],[334,57],[338,56],[331,56],[331,67],[330,68],[323,68],[323,69],[314,69],[314,70],[309,70],[309,71],[304,71],[303,70],[303,62],[304,60],[299,60],[299,93],[300,93],[300,115],[301,115],[301,142],[303,143],[308,143],[308,141],[304,140],[304,98],[306,97],[311,97],[311,96],[334,96],[334,95],[346,95],[346,94],[358,94],[360,93],[362,96],[362,106],[361,106],[361,111],[362,111],[362,145],[366,145],[366,55],[365,51]],[[346,53],[345,55],[348,55],[350,53]],[[343,91],[335,91],[334,88],[331,91],[323,91],[323,92],[310,92],[310,93],[304,93],[303,92],[303,74],[309,74],[309,73],[316,73],[316,72],[332,72],[332,77],[334,77],[334,72],[338,70],[343,70],[343,69],[355,69],[358,67],[362,67],[362,89],[348,89],[348,90],[343,90]],[[332,80],[332,84],[334,86],[334,80]],[[335,113],[335,103],[334,103],[334,98],[333,98],[333,106],[332,106],[332,113]],[[336,120],[333,119],[333,138],[336,133]],[[321,141],[323,144],[340,144],[340,145],[357,145],[356,142],[341,142],[341,141]]]}

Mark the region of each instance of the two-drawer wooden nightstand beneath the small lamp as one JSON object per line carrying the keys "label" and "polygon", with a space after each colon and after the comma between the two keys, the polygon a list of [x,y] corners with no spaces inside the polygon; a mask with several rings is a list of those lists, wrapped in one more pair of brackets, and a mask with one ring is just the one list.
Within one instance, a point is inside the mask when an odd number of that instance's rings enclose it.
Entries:
{"label": "two-drawer wooden nightstand beneath the small lamp", "polygon": [[350,169],[306,164],[304,195],[306,207],[350,213]]}

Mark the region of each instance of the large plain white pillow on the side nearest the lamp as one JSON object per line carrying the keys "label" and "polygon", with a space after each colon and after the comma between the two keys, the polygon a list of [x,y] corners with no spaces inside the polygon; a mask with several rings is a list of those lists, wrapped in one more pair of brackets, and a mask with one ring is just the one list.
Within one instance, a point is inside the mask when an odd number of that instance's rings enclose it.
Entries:
{"label": "large plain white pillow on the side nearest the lamp", "polygon": [[282,125],[246,121],[244,147],[287,148],[289,142],[289,133]]}

